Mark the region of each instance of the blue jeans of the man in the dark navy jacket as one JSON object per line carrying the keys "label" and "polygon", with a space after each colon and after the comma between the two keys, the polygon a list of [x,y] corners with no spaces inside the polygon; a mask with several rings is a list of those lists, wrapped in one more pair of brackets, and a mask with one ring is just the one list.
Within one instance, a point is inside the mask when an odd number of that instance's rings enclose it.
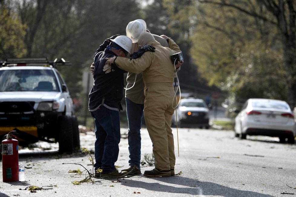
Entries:
{"label": "blue jeans of the man in the dark navy jacket", "polygon": [[103,105],[96,111],[90,111],[96,125],[96,141],[94,143],[94,169],[109,173],[115,170],[120,142],[119,111],[110,110]]}

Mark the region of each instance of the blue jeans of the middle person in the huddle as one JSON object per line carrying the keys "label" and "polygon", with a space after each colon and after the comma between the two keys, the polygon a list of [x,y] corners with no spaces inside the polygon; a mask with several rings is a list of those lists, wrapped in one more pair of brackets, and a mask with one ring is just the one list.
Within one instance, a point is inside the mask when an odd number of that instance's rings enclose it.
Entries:
{"label": "blue jeans of the middle person in the huddle", "polygon": [[128,120],[128,150],[130,152],[129,166],[137,166],[140,169],[141,162],[141,134],[144,104],[137,104],[125,98],[127,103]]}

